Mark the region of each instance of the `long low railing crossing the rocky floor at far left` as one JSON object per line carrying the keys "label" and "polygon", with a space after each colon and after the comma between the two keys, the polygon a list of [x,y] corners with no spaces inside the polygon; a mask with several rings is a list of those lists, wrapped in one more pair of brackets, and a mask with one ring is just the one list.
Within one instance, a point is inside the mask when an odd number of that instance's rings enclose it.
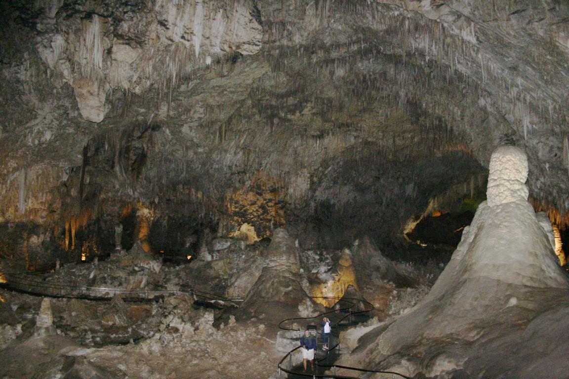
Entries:
{"label": "long low railing crossing the rocky floor at far left", "polygon": [[13,288],[27,293],[48,296],[48,297],[68,297],[83,299],[110,299],[115,295],[121,295],[125,298],[135,299],[153,299],[159,296],[173,296],[179,294],[194,295],[196,297],[207,299],[208,301],[240,301],[241,299],[228,299],[220,295],[191,289],[189,291],[180,290],[146,290],[146,289],[124,289],[124,288],[108,288],[93,287],[80,285],[55,284],[46,281],[38,281],[27,278],[29,274],[39,273],[6,273],[0,272],[5,283],[4,286]]}

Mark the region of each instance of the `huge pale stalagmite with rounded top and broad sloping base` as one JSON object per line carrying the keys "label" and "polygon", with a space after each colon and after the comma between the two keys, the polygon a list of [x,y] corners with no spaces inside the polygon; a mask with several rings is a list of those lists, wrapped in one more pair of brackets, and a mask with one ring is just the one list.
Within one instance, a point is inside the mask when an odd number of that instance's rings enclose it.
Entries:
{"label": "huge pale stalagmite with rounded top and broad sloping base", "polygon": [[553,336],[569,332],[569,278],[527,202],[526,178],[521,149],[494,151],[488,201],[430,293],[344,363],[438,378],[566,376],[558,353],[567,342]]}

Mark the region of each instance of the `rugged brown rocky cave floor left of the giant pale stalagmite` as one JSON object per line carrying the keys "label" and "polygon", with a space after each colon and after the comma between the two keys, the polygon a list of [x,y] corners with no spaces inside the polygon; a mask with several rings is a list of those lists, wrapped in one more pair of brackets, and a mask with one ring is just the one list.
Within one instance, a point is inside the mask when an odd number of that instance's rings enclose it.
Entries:
{"label": "rugged brown rocky cave floor left of the giant pale stalagmite", "polygon": [[[378,252],[365,246],[368,253]],[[246,251],[251,247],[239,240],[213,241],[209,248],[211,260],[174,265],[163,264],[135,244],[129,252],[117,251],[105,261],[63,265],[53,273],[29,277],[44,284],[83,281],[106,288],[199,288],[245,298],[238,309],[211,309],[184,294],[133,301],[109,293],[107,300],[51,298],[47,317],[40,311],[42,297],[2,289],[0,360],[10,362],[3,378],[91,374],[101,378],[268,378],[284,355],[277,343],[278,322],[324,311],[308,295],[323,283],[335,288],[343,278],[353,280],[344,277],[345,268],[351,266],[346,261],[352,256],[349,249],[302,251],[284,230],[275,231],[270,245],[257,245],[255,259]],[[353,254],[365,255],[365,249],[360,246]],[[373,293],[370,299],[376,305],[372,324],[404,313],[434,279],[434,274],[420,274],[409,263],[382,259],[391,265],[392,273],[413,278],[415,285],[398,288],[389,277],[371,278],[365,293]],[[427,270],[437,273],[440,269],[434,264]],[[296,290],[287,294],[283,289],[291,283]],[[40,319],[52,320],[52,327],[39,332],[36,320]],[[296,345],[296,335],[288,343]],[[42,359],[30,363],[26,359],[30,355]]]}

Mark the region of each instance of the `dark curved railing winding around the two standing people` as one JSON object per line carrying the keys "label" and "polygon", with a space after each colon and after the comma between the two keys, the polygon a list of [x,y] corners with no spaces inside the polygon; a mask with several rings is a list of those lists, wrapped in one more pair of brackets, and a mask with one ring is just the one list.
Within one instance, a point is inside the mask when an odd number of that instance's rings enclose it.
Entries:
{"label": "dark curved railing winding around the two standing people", "polygon": [[[320,299],[332,299],[332,300],[337,300],[338,302],[336,304],[338,304],[339,302],[346,302],[349,303],[350,305],[348,307],[340,307],[337,309],[333,309],[331,311],[319,314],[317,316],[313,316],[313,317],[296,317],[296,318],[290,318],[290,319],[285,319],[282,320],[279,323],[279,328],[281,328],[282,330],[297,330],[300,331],[300,328],[293,328],[293,322],[294,320],[311,320],[311,319],[320,319],[322,316],[324,315],[329,315],[329,314],[338,314],[341,312],[345,312],[347,311],[348,314],[344,315],[342,318],[340,318],[339,320],[337,320],[333,326],[337,326],[339,323],[341,323],[344,319],[346,318],[351,318],[354,315],[357,314],[364,314],[364,313],[369,313],[371,314],[371,312],[374,309],[374,306],[372,303],[364,300],[364,299],[357,299],[357,298],[339,298],[339,297],[311,297],[311,298],[320,298]],[[361,302],[362,304],[365,305],[363,310],[354,310],[353,307],[356,306],[358,304],[358,302]],[[284,326],[284,323],[287,322],[291,322],[291,327],[287,328]],[[320,333],[318,333],[320,334]],[[405,378],[405,379],[410,379],[409,377],[406,377],[403,374],[399,374],[397,372],[392,372],[392,371],[381,371],[381,370],[368,370],[368,369],[362,369],[362,368],[357,368],[357,367],[351,367],[351,366],[343,366],[343,365],[324,365],[321,364],[322,361],[324,361],[326,359],[326,357],[321,358],[321,359],[315,359],[315,363],[316,363],[316,372],[315,373],[306,373],[306,372],[298,372],[295,370],[292,370],[292,354],[298,350],[300,348],[300,345],[298,347],[295,347],[294,349],[292,349],[291,351],[289,351],[282,359],[281,361],[279,361],[278,363],[278,377],[279,379],[281,379],[281,373],[287,373],[287,374],[294,374],[296,376],[301,376],[301,377],[307,377],[307,378],[339,378],[339,379],[358,379],[358,377],[356,376],[345,376],[345,375],[337,375],[336,374],[336,369],[340,368],[340,369],[344,369],[344,370],[353,370],[353,371],[357,371],[357,372],[369,372],[369,373],[384,373],[384,374],[392,374],[392,375],[397,375],[398,377],[401,378]],[[327,350],[327,356],[328,353],[333,351],[333,349],[336,348],[340,348],[340,338],[337,337],[335,344],[333,345],[329,345],[329,349]],[[288,359],[288,368],[285,367],[284,362]],[[325,370],[332,370],[332,373],[319,373],[319,368],[324,368]]]}

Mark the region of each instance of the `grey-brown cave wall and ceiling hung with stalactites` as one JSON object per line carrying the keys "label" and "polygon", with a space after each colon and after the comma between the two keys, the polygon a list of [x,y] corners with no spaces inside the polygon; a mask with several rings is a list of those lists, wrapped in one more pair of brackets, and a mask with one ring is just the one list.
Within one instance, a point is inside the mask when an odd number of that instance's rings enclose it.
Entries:
{"label": "grey-brown cave wall and ceiling hung with stalactites", "polygon": [[135,240],[187,257],[281,226],[304,248],[394,243],[436,199],[472,195],[500,144],[525,149],[535,207],[566,226],[565,2],[46,0],[1,14],[0,254],[20,266]]}

